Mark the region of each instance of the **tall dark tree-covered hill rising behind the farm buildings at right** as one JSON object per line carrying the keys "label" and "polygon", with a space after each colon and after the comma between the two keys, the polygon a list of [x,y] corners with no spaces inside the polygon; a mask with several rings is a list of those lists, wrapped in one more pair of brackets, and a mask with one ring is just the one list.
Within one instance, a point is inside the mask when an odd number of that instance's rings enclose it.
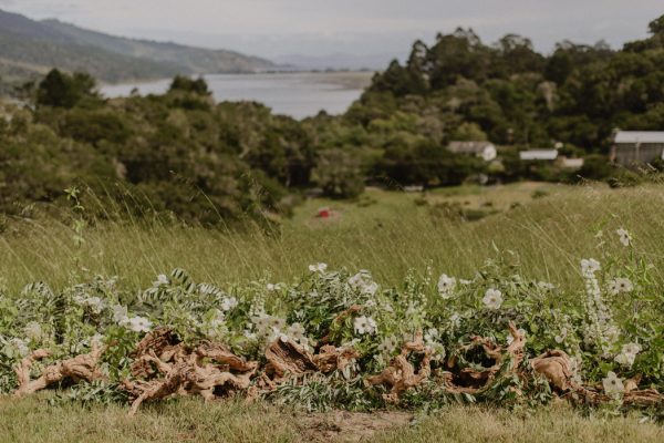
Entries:
{"label": "tall dark tree-covered hill rising behind the farm buildings at right", "polygon": [[473,30],[418,41],[349,112],[363,126],[406,126],[436,143],[489,138],[500,145],[605,152],[615,127],[664,127],[664,17],[651,38],[614,51],[564,41],[550,55],[509,34],[487,45]]}

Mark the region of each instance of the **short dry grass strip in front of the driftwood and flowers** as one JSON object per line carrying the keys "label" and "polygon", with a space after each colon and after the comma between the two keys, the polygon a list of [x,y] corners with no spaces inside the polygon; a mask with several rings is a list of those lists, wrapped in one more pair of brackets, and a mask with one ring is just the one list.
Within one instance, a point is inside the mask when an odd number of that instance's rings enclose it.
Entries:
{"label": "short dry grass strip in front of the driftwood and flowers", "polygon": [[[532,414],[449,406],[391,426],[365,414],[307,414],[264,403],[184,399],[131,419],[117,405],[49,406],[48,394],[0,399],[0,443],[32,442],[661,442],[664,429],[636,418],[583,418],[567,406]],[[390,413],[386,413],[390,419]],[[395,421],[395,423],[397,423]]]}

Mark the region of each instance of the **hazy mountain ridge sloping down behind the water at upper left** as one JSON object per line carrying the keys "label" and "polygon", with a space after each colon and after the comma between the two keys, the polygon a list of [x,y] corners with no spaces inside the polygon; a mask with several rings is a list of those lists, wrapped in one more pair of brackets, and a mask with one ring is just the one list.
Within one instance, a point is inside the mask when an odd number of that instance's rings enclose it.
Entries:
{"label": "hazy mountain ridge sloping down behind the water at upper left", "polygon": [[52,68],[83,71],[103,82],[152,80],[175,74],[273,70],[269,60],[234,51],[135,40],[35,21],[0,10],[0,82],[17,83]]}

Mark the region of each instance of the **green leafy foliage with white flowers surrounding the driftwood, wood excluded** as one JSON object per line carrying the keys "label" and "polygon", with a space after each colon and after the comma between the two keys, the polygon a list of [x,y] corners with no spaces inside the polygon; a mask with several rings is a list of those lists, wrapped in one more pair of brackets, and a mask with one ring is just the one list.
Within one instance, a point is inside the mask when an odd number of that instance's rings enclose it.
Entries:
{"label": "green leafy foliage with white flowers surrounding the driftwood, wood excluded", "polygon": [[[73,189],[70,194],[76,195]],[[434,279],[428,267],[422,275],[409,271],[392,288],[382,288],[366,270],[353,275],[328,270],[324,264],[311,265],[293,284],[263,279],[226,290],[198,284],[181,269],[158,276],[138,293],[122,290],[116,278],[95,277],[63,290],[31,284],[0,298],[0,389],[15,387],[12,367],[31,350],[50,350],[48,364],[85,352],[97,341],[108,346],[103,357],[108,380],[79,385],[54,402],[126,401],[118,384],[128,377],[133,347],[147,331],[166,327],[186,344],[219,341],[252,360],[284,336],[310,350],[323,342],[353,347],[359,356],[343,370],[304,374],[266,395],[308,411],[370,411],[384,406],[384,391],[366,388],[365,377],[388,367],[416,331],[424,332],[437,374],[450,364],[455,371],[492,365],[473,337],[509,342],[509,322],[526,337],[523,373],[531,371],[529,358],[561,349],[588,385],[614,372],[662,389],[663,300],[652,290],[652,267],[634,248],[639,239],[626,230],[601,230],[596,238],[602,239],[595,250],[602,261],[581,260],[584,289],[573,295],[522,276],[513,253],[497,253],[468,280],[447,275]],[[421,357],[412,357],[412,363],[419,364]],[[483,402],[533,408],[552,401],[546,381],[518,377],[510,365],[509,359],[502,361],[475,395],[453,394],[432,377],[411,389],[398,405],[428,410]],[[527,382],[530,379],[535,381]],[[616,393],[616,408],[621,395]]]}

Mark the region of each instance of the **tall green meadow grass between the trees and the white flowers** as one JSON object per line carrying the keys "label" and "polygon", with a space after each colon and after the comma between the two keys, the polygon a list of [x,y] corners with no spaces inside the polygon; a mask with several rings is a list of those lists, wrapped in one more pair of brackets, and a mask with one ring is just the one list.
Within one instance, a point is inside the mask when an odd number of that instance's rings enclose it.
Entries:
{"label": "tall green meadow grass between the trees and the white flowers", "polygon": [[[507,186],[463,198],[523,202],[523,186]],[[457,189],[458,198],[461,193]],[[311,262],[331,268],[369,269],[382,285],[396,285],[408,269],[471,277],[498,250],[515,251],[522,274],[566,289],[581,287],[579,260],[598,254],[596,245],[616,241],[615,229],[635,236],[635,247],[664,281],[664,193],[656,186],[609,189],[556,186],[549,195],[474,223],[432,216],[440,194],[385,193],[372,189],[357,203],[310,200],[279,234],[258,227],[241,233],[136,220],[105,222],[86,228],[75,246],[70,226],[53,220],[21,222],[17,234],[0,236],[0,267],[12,291],[33,280],[55,288],[85,275],[118,276],[141,289],[154,277],[179,267],[197,281],[220,286],[271,276],[290,281]],[[317,219],[318,207],[339,215]],[[595,238],[603,229],[605,237]],[[618,245],[616,245],[618,247]]]}

